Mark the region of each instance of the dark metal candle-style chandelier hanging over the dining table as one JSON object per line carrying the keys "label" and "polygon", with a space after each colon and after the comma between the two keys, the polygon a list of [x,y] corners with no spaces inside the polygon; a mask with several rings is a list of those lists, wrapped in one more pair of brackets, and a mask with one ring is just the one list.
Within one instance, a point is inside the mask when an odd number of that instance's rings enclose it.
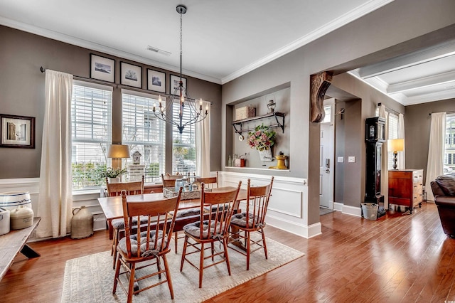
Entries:
{"label": "dark metal candle-style chandelier hanging over the dining table", "polygon": [[[198,104],[196,100],[192,99],[188,94],[188,90],[183,86],[182,81],[182,16],[186,13],[186,6],[178,5],[177,12],[180,14],[180,81],[178,85],[171,83],[171,87],[174,87],[173,94],[169,97],[169,101],[166,100],[166,105],[163,105],[161,96],[159,96],[159,109],[156,110],[154,105],[154,115],[166,123],[175,125],[178,128],[178,132],[182,134],[183,129],[190,125],[201,122],[208,115],[208,106],[203,110],[203,100],[200,99]],[[171,88],[172,89],[172,88]],[[178,102],[178,121],[173,116],[173,106]]]}

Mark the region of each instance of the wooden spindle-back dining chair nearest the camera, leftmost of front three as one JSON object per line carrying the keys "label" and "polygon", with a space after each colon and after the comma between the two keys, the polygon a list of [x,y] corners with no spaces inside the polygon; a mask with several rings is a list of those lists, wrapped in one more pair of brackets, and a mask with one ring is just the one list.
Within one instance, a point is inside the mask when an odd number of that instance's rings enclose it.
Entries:
{"label": "wooden spindle-back dining chair nearest the camera, leftmost of front three", "polygon": [[[115,267],[112,294],[115,294],[117,284],[120,285],[127,293],[129,303],[132,302],[133,294],[139,294],[139,292],[167,282],[171,299],[173,299],[171,272],[166,254],[171,251],[169,243],[176,223],[175,213],[180,198],[181,189],[178,191],[178,196],[172,198],[164,198],[159,201],[128,202],[126,192],[122,191],[125,237],[120,239],[119,245],[117,245],[119,257]],[[147,218],[145,231],[134,225],[134,221],[139,222],[141,218]],[[156,272],[139,276],[141,271],[136,271],[144,267],[153,268],[152,265],[156,265]],[[161,274],[164,274],[165,280],[161,280]],[[128,285],[122,282],[120,275],[127,275]],[[159,282],[154,280],[156,283],[153,285],[138,287],[134,290],[134,284],[139,280],[144,283],[144,280],[156,275],[160,279]]]}

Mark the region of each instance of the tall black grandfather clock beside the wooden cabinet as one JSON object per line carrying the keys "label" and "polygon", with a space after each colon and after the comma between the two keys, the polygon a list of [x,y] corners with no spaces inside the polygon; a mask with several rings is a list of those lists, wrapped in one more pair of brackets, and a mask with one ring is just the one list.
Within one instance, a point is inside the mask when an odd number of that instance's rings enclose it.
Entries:
{"label": "tall black grandfather clock beside the wooden cabinet", "polygon": [[381,194],[382,143],[385,142],[385,119],[365,119],[366,174],[365,202],[378,203],[378,217],[385,215],[384,195]]}

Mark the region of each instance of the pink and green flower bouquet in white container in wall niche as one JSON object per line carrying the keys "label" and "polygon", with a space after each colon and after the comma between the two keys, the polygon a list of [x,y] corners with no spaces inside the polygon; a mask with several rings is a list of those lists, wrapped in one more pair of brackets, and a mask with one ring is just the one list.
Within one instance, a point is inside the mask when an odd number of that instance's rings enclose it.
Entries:
{"label": "pink and green flower bouquet in white container in wall niche", "polygon": [[272,161],[272,146],[275,144],[277,133],[270,127],[261,124],[255,127],[254,132],[248,133],[248,145],[259,151],[261,161]]}

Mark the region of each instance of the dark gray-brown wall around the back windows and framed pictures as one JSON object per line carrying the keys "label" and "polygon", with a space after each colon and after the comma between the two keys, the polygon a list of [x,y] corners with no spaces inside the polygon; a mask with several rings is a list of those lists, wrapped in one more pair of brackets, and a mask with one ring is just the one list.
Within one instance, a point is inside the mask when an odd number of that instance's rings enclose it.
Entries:
{"label": "dark gray-brown wall around the back windows and framed pictures", "polygon": [[[120,60],[141,65],[142,87],[146,87],[146,68],[161,70],[6,26],[0,26],[0,37],[0,113],[36,117],[36,148],[0,148],[0,179],[38,177],[40,174],[45,86],[45,75],[39,70],[41,66],[90,78],[90,53],[97,53],[116,60],[116,83],[119,83],[120,78]],[[170,72],[167,70],[161,71],[166,72],[166,80],[169,81]],[[221,85],[188,76],[186,78],[188,79],[191,97],[196,99],[202,97],[203,100],[213,102],[213,106],[210,109],[210,169],[212,171],[220,170],[221,124],[219,117],[221,115]],[[112,94],[112,141],[117,143],[122,140],[122,86],[112,86],[114,87]],[[168,85],[166,86],[166,90],[169,90]],[[132,87],[127,88],[134,90]],[[146,90],[141,91],[147,92]],[[167,150],[166,158],[171,159],[171,147]]]}

